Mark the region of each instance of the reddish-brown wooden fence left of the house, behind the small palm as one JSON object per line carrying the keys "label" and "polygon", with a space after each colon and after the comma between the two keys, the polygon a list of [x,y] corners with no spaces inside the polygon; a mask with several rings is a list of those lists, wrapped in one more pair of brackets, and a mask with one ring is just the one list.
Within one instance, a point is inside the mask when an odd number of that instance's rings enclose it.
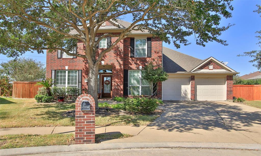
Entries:
{"label": "reddish-brown wooden fence left of the house, behind the small palm", "polygon": [[41,86],[35,86],[40,81],[22,82],[13,81],[13,98],[34,98]]}

